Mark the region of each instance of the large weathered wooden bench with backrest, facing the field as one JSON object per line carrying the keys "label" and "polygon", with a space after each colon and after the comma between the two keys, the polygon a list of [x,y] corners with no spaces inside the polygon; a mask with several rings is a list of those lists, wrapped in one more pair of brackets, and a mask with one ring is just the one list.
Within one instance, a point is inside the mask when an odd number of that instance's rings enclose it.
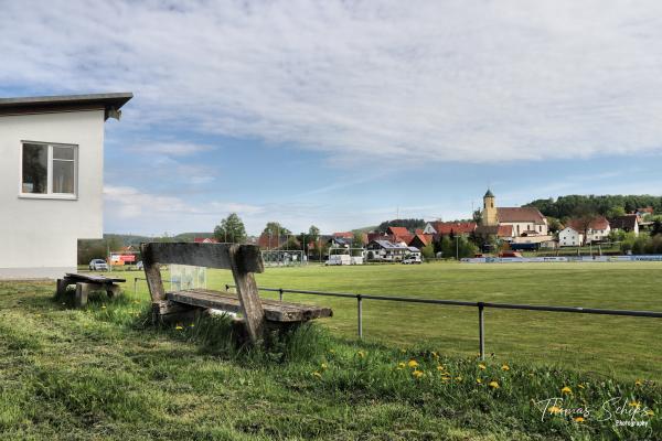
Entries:
{"label": "large weathered wooden bench with backrest, facing the field", "polygon": [[[253,275],[265,269],[255,245],[148,243],[141,244],[140,250],[152,299],[152,319],[157,323],[177,321],[196,310],[241,313],[248,340],[255,344],[264,338],[269,325],[288,326],[333,314],[329,308],[260,299]],[[237,292],[205,289],[166,292],[161,263],[232,270]]]}

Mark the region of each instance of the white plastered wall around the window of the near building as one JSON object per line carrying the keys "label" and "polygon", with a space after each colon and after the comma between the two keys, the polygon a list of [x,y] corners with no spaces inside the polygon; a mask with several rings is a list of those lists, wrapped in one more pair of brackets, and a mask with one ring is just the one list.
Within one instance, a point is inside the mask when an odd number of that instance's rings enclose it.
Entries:
{"label": "white plastered wall around the window of the near building", "polygon": [[[21,141],[78,146],[77,200],[20,197]],[[0,116],[0,279],[76,268],[77,239],[103,237],[104,110]]]}

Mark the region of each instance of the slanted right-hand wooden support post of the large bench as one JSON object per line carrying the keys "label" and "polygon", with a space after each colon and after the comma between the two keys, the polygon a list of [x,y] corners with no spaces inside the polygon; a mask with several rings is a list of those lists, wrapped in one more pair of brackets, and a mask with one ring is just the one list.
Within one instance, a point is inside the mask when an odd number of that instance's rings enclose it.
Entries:
{"label": "slanted right-hand wooden support post of the large bench", "polygon": [[232,275],[234,277],[237,294],[246,322],[246,331],[253,344],[257,344],[263,338],[265,330],[265,311],[257,292],[257,283],[253,272],[248,272],[244,267],[245,256],[241,256],[241,246],[229,247],[229,262]]}

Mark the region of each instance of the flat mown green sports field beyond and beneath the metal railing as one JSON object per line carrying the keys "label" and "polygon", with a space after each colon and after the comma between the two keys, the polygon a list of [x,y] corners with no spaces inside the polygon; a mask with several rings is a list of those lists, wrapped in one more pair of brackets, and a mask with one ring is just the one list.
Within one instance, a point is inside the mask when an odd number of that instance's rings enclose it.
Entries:
{"label": "flat mown green sports field beyond and beneath the metal railing", "polygon": [[[143,277],[136,271],[125,275],[131,290],[134,278]],[[266,288],[662,311],[660,262],[310,265],[268,268],[257,275],[257,282]],[[209,272],[209,288],[222,289],[225,283],[232,283],[229,271]],[[138,282],[138,292],[141,300],[147,299],[143,281]],[[298,294],[286,294],[285,300],[332,306],[334,316],[322,321],[324,325],[355,338],[355,300]],[[401,346],[429,342],[448,354],[476,355],[478,312],[476,308],[364,300],[363,332],[369,342]],[[626,378],[662,378],[662,319],[488,309],[485,352],[499,359],[559,363]]]}

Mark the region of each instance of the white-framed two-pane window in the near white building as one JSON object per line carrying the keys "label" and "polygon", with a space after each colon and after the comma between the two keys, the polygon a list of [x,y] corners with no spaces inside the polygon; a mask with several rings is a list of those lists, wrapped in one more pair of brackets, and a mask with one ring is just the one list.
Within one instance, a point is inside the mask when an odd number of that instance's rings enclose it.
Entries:
{"label": "white-framed two-pane window in the near white building", "polygon": [[23,142],[21,195],[76,196],[77,159],[77,146]]}

